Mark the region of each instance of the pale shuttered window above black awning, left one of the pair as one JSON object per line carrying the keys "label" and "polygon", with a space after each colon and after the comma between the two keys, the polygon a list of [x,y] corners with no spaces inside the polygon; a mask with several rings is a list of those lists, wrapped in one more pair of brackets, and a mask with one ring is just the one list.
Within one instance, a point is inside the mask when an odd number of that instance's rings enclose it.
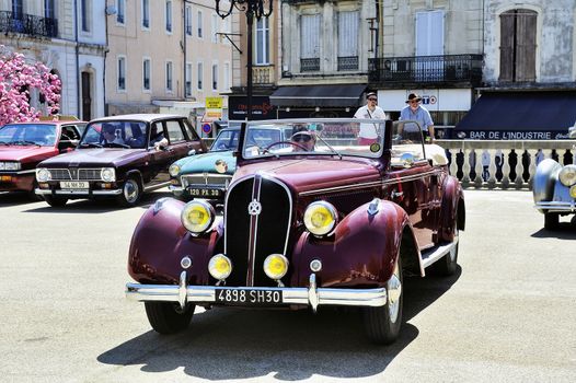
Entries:
{"label": "pale shuttered window above black awning, left one of the pair", "polygon": [[300,71],[320,70],[320,14],[304,14],[300,25]]}

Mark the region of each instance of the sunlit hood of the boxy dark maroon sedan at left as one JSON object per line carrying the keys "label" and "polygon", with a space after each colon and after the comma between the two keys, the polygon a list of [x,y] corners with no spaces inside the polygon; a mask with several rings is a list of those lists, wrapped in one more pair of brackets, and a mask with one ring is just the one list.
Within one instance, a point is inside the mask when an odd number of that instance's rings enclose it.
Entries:
{"label": "sunlit hood of the boxy dark maroon sedan at left", "polygon": [[53,156],[42,162],[42,165],[68,165],[74,164],[119,164],[139,158],[146,149],[77,149],[69,153]]}

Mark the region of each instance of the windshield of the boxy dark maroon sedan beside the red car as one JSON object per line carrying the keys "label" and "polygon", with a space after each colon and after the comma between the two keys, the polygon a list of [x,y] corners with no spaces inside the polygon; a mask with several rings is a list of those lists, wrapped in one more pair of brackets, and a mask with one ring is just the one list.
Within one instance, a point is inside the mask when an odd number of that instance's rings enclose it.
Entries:
{"label": "windshield of the boxy dark maroon sedan beside the red car", "polygon": [[147,124],[142,121],[106,120],[87,126],[79,148],[146,148]]}

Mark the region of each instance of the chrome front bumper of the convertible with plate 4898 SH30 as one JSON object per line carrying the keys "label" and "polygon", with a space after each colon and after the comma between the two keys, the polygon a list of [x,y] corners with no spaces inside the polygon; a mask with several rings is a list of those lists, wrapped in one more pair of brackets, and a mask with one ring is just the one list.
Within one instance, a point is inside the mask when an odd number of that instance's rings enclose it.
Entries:
{"label": "chrome front bumper of the convertible with plate 4898 SH30", "polygon": [[[316,288],[315,275],[310,275],[309,288],[228,288],[233,290],[281,291],[281,304],[308,305],[316,311],[319,305],[383,306],[387,303],[387,290],[381,289],[330,289]],[[140,285],[126,283],[126,298],[133,301],[178,302],[181,307],[187,303],[216,302],[215,286],[186,286],[186,271],[180,276],[180,285]]]}

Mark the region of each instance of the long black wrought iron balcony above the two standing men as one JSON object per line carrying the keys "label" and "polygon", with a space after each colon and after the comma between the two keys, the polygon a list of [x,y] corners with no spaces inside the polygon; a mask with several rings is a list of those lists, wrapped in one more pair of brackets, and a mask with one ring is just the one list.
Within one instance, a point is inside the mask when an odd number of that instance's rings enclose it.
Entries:
{"label": "long black wrought iron balcony above the two standing men", "polygon": [[383,88],[482,82],[482,55],[383,57],[368,60],[368,79]]}

